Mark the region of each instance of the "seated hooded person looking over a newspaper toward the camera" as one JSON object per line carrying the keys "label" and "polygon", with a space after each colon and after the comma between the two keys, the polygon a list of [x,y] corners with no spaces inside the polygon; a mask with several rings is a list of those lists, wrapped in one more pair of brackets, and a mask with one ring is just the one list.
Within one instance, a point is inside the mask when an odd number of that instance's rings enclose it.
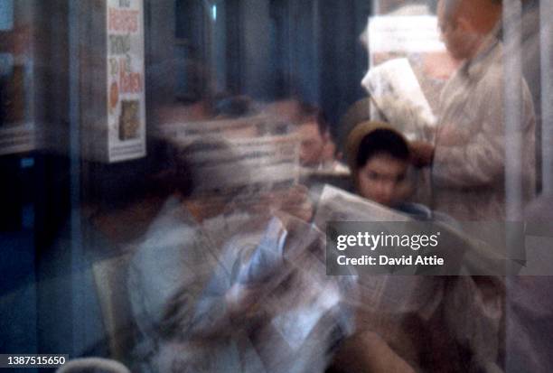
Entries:
{"label": "seated hooded person looking over a newspaper toward the camera", "polygon": [[[393,127],[380,122],[355,126],[346,151],[361,196],[413,219],[450,222],[448,217],[435,215],[424,205],[408,202],[412,191],[408,142]],[[370,276],[360,278],[360,284],[368,289],[373,281]],[[504,296],[501,279],[398,275],[388,281],[394,287],[412,289],[404,309],[390,310],[384,317],[387,322],[371,321],[381,316],[375,315],[374,306],[370,305],[373,302],[370,290],[363,297],[361,287],[361,302],[367,305],[361,306],[359,329],[344,345],[339,361],[369,344],[380,351],[379,355],[364,357],[366,364],[373,367],[370,371],[476,372],[499,368]],[[363,371],[357,361],[350,364],[351,370],[345,371]]]}

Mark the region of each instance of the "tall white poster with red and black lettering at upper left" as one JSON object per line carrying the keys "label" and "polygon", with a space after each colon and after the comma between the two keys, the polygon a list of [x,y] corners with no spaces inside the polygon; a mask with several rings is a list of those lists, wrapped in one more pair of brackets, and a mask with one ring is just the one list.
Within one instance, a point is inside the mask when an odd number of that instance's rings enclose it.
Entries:
{"label": "tall white poster with red and black lettering at upper left", "polygon": [[143,0],[108,0],[108,161],[145,156]]}

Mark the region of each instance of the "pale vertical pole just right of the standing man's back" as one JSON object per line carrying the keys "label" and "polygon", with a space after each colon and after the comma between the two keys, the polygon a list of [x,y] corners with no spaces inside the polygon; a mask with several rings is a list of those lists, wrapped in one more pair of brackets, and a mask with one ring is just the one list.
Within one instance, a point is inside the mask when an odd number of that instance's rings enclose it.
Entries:
{"label": "pale vertical pole just right of the standing man's back", "polygon": [[520,0],[503,0],[505,203],[506,218],[511,221],[520,220],[522,213],[521,15]]}

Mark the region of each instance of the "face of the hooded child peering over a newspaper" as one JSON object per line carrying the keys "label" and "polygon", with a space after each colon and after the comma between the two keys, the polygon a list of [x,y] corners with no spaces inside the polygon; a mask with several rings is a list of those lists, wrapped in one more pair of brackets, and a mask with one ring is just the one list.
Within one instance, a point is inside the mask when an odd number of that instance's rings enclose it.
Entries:
{"label": "face of the hooded child peering over a newspaper", "polygon": [[408,161],[389,154],[375,154],[359,169],[358,188],[362,197],[394,207],[410,192]]}

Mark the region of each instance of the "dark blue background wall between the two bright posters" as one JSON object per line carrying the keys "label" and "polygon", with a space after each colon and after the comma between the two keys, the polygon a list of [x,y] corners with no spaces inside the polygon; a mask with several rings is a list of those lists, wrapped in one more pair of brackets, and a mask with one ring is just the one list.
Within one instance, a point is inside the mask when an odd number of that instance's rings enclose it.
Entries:
{"label": "dark blue background wall between the two bright posters", "polygon": [[[216,19],[205,4],[148,2],[148,70],[152,87],[159,87],[164,98],[171,89],[173,97],[189,99],[220,92],[263,101],[295,96],[320,105],[337,122],[365,95],[361,79],[368,57],[359,36],[370,2],[211,2]],[[171,18],[173,25],[167,22]],[[194,79],[199,71],[202,79]]]}

